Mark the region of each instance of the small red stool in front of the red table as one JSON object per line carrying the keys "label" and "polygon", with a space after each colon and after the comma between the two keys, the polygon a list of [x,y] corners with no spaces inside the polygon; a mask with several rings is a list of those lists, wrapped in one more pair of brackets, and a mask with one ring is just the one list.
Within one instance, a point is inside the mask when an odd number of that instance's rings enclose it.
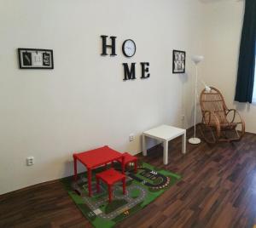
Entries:
{"label": "small red stool in front of the red table", "polygon": [[121,174],[118,171],[110,168],[102,173],[96,174],[96,187],[97,192],[100,191],[100,180],[108,185],[108,198],[109,202],[112,201],[112,185],[119,180],[123,181],[123,194],[125,195],[125,174]]}

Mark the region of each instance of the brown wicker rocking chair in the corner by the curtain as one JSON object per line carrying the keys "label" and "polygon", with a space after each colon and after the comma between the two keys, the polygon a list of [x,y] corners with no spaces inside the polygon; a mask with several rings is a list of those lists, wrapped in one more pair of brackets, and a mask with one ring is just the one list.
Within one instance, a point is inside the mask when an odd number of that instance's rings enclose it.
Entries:
{"label": "brown wicker rocking chair in the corner by the curtain", "polygon": [[200,96],[201,134],[207,143],[241,140],[245,123],[235,109],[228,109],[217,88],[204,89]]}

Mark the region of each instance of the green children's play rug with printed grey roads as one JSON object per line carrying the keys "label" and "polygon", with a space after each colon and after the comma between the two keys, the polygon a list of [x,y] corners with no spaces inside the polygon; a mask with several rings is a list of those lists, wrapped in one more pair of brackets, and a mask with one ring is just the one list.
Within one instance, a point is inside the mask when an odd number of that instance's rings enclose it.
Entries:
{"label": "green children's play rug with printed grey roads", "polygon": [[[73,202],[96,228],[113,227],[119,221],[137,213],[181,179],[178,174],[156,168],[145,162],[138,162],[137,174],[133,163],[126,168],[126,194],[122,194],[122,182],[113,186],[113,200],[108,203],[107,185],[101,182],[100,193],[96,192],[96,181],[92,180],[93,197],[88,197],[87,175],[79,174],[77,182],[73,177],[61,180]],[[114,168],[119,169],[115,163]],[[93,177],[104,168],[93,171]]]}

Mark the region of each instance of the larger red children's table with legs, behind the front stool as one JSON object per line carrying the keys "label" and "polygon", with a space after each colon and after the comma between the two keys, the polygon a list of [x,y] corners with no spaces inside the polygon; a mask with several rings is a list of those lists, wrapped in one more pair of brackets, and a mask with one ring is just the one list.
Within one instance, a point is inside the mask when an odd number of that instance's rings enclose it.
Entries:
{"label": "larger red children's table with legs, behind the front stool", "polygon": [[109,148],[108,145],[102,146],[95,150],[84,151],[81,153],[73,154],[73,168],[74,168],[74,179],[78,178],[77,161],[84,164],[87,168],[88,176],[88,192],[91,197],[91,170],[102,165],[106,165],[109,162],[117,161],[122,159],[122,173],[125,173],[125,157],[119,151],[114,151]]}

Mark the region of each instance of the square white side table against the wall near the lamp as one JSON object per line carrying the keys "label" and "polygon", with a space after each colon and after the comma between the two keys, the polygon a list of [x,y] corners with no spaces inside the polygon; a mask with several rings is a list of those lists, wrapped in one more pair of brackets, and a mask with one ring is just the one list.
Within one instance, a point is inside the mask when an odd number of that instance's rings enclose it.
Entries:
{"label": "square white side table against the wall near the lamp", "polygon": [[182,152],[186,153],[186,130],[182,128],[174,128],[168,125],[161,125],[143,132],[143,156],[147,156],[146,136],[154,140],[160,140],[164,144],[164,164],[168,163],[168,142],[183,135]]}

